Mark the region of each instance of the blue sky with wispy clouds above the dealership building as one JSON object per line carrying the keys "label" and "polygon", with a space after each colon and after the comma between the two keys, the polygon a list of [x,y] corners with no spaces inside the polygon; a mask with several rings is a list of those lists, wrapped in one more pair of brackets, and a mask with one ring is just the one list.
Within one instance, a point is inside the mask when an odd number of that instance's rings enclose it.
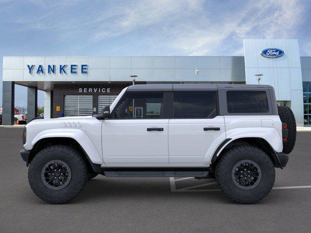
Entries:
{"label": "blue sky with wispy clouds above the dealership building", "polygon": [[243,39],[298,39],[311,56],[311,1],[0,0],[0,106],[3,56],[233,56]]}

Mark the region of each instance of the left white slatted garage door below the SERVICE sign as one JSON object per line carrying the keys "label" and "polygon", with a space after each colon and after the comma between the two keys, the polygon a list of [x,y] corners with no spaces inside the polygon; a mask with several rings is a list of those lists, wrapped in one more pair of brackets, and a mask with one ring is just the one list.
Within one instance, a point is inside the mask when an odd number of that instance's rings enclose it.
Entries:
{"label": "left white slatted garage door below the SERVICE sign", "polygon": [[93,96],[65,96],[65,116],[92,115]]}

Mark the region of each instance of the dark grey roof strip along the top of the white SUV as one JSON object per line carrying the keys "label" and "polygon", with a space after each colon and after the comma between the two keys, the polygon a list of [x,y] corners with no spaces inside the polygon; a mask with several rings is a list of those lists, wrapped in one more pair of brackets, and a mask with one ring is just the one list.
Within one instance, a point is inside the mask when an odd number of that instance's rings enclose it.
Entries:
{"label": "dark grey roof strip along the top of the white SUV", "polygon": [[272,88],[270,85],[253,84],[136,84],[127,91],[217,91],[226,88]]}

